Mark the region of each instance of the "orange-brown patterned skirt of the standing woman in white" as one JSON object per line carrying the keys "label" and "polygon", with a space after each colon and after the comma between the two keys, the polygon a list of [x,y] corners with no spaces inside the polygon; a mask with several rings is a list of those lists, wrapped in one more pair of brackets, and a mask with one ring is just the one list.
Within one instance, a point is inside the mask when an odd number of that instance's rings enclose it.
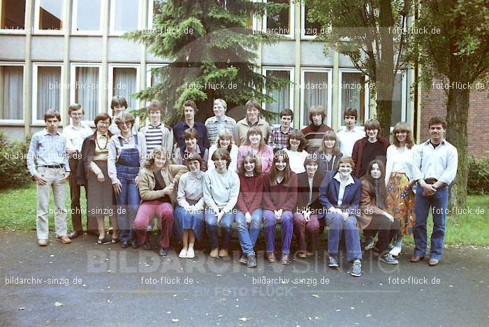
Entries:
{"label": "orange-brown patterned skirt of the standing woman in white", "polygon": [[404,173],[391,173],[387,184],[387,211],[400,219],[400,232],[404,235],[413,233],[416,216],[414,215],[414,192],[409,188],[409,179]]}

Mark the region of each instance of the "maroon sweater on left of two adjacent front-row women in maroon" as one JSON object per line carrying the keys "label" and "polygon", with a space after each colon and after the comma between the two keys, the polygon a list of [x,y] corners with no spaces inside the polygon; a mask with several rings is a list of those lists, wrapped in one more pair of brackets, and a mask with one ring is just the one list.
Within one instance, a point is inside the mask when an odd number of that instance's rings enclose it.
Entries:
{"label": "maroon sweater on left of two adjacent front-row women in maroon", "polygon": [[263,198],[263,184],[265,178],[263,175],[245,177],[238,174],[240,177],[240,194],[238,195],[238,209],[243,213],[261,208],[261,200]]}

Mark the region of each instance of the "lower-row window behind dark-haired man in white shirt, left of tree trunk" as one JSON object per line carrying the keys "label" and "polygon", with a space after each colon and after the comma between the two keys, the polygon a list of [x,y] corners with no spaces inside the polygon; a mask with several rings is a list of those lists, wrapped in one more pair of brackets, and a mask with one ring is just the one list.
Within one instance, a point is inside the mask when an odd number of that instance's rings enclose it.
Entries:
{"label": "lower-row window behind dark-haired man in white shirt, left of tree trunk", "polygon": [[340,71],[340,117],[338,122],[344,124],[343,112],[348,108],[356,109],[358,119],[357,126],[365,124],[365,118],[368,119],[368,85],[367,79],[362,73],[358,73],[356,69],[345,69]]}

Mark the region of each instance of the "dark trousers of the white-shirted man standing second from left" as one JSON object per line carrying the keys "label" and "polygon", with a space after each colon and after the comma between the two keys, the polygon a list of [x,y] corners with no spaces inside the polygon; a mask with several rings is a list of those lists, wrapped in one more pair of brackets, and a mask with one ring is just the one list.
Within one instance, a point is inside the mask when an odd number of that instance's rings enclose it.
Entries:
{"label": "dark trousers of the white-shirted man standing second from left", "polygon": [[[70,184],[70,196],[71,196],[71,224],[73,224],[73,231],[83,231],[82,226],[82,209],[80,208],[80,186],[77,184],[76,172],[78,170],[78,164],[83,164],[79,159],[70,158],[68,160],[70,165],[70,177],[68,182]],[[87,194],[87,187],[85,187],[85,194]],[[87,231],[98,231],[97,222],[94,217],[87,217]]]}

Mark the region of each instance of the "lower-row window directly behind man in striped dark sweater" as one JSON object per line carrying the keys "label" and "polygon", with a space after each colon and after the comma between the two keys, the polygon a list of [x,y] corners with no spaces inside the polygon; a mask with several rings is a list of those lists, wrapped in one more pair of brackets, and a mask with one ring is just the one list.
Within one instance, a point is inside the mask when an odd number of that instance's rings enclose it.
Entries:
{"label": "lower-row window directly behind man in striped dark sweater", "polygon": [[303,68],[302,83],[300,84],[300,106],[301,119],[300,126],[307,126],[309,121],[309,109],[312,106],[323,106],[326,110],[327,120],[325,124],[331,126],[331,103],[332,93],[332,74],[330,69]]}

